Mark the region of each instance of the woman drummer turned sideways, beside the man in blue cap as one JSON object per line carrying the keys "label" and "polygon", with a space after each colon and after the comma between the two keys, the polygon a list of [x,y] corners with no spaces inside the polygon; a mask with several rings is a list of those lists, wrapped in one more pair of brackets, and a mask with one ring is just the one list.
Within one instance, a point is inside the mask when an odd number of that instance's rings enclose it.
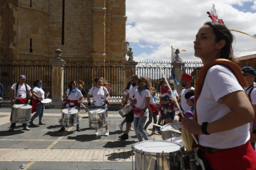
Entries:
{"label": "woman drummer turned sideways, beside the man in blue cap", "polygon": [[[43,85],[43,81],[41,81],[41,79],[36,79],[35,83],[34,83],[34,88],[33,88],[33,99],[32,99],[32,110],[31,113],[33,114],[35,111],[35,115],[32,116],[32,118],[30,119],[30,122],[28,122],[30,125],[35,126],[35,124],[33,124],[33,120],[39,116],[39,125],[44,125],[45,123],[42,122],[42,118],[43,118],[43,112],[45,111],[45,105],[43,105],[41,103],[41,100],[45,99],[45,91],[43,91],[42,89],[42,85]],[[46,95],[49,95],[46,94]]]}

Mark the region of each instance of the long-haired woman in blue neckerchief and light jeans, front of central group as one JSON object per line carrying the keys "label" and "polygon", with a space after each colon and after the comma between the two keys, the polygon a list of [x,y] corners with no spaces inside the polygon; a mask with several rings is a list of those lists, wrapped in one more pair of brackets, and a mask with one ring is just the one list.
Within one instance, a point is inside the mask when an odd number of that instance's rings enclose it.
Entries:
{"label": "long-haired woman in blue neckerchief and light jeans, front of central group", "polygon": [[132,103],[125,105],[125,108],[130,106],[134,107],[134,131],[139,139],[139,142],[142,142],[142,137],[145,140],[148,140],[147,132],[144,131],[143,127],[148,118],[148,107],[150,105],[150,80],[147,78],[140,77],[139,87],[134,93],[134,100]]}

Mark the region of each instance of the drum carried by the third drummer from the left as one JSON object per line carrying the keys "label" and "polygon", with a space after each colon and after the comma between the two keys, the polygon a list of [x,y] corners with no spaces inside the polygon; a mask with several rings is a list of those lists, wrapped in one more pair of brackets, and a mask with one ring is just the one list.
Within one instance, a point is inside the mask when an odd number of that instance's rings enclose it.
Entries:
{"label": "drum carried by the third drummer from the left", "polygon": [[77,108],[64,108],[61,114],[59,123],[62,126],[71,127],[79,123],[79,110]]}

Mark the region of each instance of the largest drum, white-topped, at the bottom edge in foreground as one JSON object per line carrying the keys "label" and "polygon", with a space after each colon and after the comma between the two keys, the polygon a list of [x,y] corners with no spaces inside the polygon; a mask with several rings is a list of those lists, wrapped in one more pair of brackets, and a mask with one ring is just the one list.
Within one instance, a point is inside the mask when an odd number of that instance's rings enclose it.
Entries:
{"label": "largest drum, white-topped, at the bottom edge in foreground", "polygon": [[132,145],[135,169],[183,169],[183,145],[167,140],[145,140]]}

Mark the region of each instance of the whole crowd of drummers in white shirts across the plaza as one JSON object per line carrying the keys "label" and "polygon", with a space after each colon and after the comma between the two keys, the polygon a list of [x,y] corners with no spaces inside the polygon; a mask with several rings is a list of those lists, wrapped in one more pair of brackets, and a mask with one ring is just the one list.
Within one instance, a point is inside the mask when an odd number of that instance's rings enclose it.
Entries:
{"label": "whole crowd of drummers in white shirts across the plaza", "polygon": [[[121,109],[132,107],[132,110],[119,124],[122,130],[126,123],[126,131],[119,138],[129,139],[132,123],[141,142],[148,140],[147,128],[152,121],[164,120],[166,124],[182,121],[187,131],[198,136],[198,157],[203,160],[205,169],[256,169],[256,71],[252,67],[237,67],[231,55],[232,42],[233,35],[224,25],[207,22],[198,30],[194,41],[195,56],[202,59],[204,66],[196,89],[191,86],[192,76],[184,73],[180,78],[181,93],[177,94],[173,80],[169,80],[168,84],[163,80],[158,99],[150,79],[131,76],[122,91]],[[80,107],[83,101],[81,89],[76,83],[71,81],[69,84],[66,107]],[[40,100],[47,94],[41,89],[42,84],[40,79],[36,80],[31,91],[32,88],[25,84],[25,76],[20,75],[19,83],[15,83],[9,91],[11,102],[16,104],[28,103],[28,97],[33,96],[32,112],[36,113],[29,122],[31,125],[36,116],[39,116],[39,124],[45,124],[42,121],[45,107]],[[103,78],[95,78],[95,84],[87,94],[88,105],[104,108],[107,116],[111,87]],[[93,102],[90,102],[91,97]],[[159,110],[156,106],[158,100]],[[176,114],[178,107],[174,100],[181,105],[184,117]],[[27,123],[22,125],[24,130],[30,130]],[[11,121],[9,131],[14,131],[14,127],[15,123]],[[108,122],[105,128],[105,136],[108,136]],[[60,131],[64,130],[62,126]],[[80,131],[79,123],[77,131]],[[95,135],[98,133],[96,129]],[[158,135],[155,126],[151,134]]]}

